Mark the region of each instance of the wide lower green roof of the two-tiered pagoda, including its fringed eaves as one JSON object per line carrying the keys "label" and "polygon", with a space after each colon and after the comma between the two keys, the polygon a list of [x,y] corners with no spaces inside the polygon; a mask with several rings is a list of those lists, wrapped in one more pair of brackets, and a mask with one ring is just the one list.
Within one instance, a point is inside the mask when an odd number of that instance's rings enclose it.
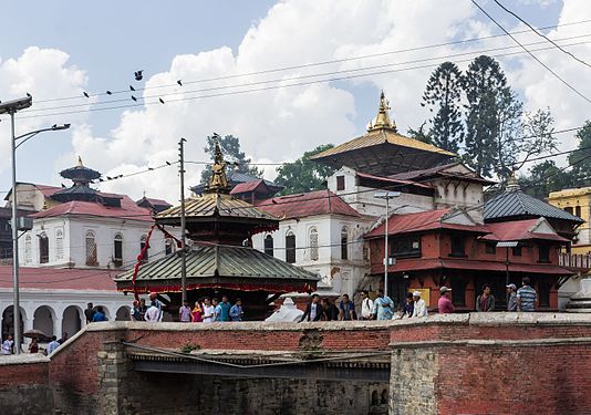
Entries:
{"label": "wide lower green roof of the two-tiered pagoda, including its fringed eaves", "polygon": [[[162,291],[177,291],[180,286],[180,252],[156,260],[139,268],[136,286]],[[186,256],[187,286],[224,287],[225,282],[242,283],[249,289],[253,286],[284,286],[284,291],[309,291],[315,288],[320,279],[305,271],[271,257],[259,250],[247,247],[199,246],[194,247]],[[133,270],[126,271],[115,279],[120,291],[129,291]],[[289,287],[288,287],[289,286]],[[144,290],[145,291],[145,290]]]}

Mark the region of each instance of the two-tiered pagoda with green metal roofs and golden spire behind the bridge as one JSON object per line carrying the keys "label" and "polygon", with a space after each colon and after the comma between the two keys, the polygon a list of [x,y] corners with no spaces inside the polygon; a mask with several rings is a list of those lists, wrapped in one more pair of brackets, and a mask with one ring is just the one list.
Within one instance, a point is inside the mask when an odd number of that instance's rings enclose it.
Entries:
{"label": "two-tiered pagoda with green metal roofs and golden spire behind the bridge", "polygon": [[[180,226],[180,206],[155,216],[160,226]],[[185,200],[186,287],[189,303],[203,297],[240,298],[248,319],[263,319],[269,303],[287,292],[311,292],[319,278],[312,272],[252,249],[250,237],[272,231],[279,218],[230,195],[226,163],[216,144],[212,175],[203,195]],[[182,252],[120,274],[115,281],[123,292],[167,293],[180,303]]]}

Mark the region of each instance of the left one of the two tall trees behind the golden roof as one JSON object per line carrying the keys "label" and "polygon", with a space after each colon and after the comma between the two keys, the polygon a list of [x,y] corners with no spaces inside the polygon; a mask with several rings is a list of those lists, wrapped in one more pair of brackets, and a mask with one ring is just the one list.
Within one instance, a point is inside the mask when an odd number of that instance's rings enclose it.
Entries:
{"label": "left one of the two tall trees behind the golden roof", "polygon": [[442,63],[427,81],[423,103],[435,116],[429,120],[429,136],[437,147],[458,153],[464,141],[462,122],[462,72],[455,63]]}

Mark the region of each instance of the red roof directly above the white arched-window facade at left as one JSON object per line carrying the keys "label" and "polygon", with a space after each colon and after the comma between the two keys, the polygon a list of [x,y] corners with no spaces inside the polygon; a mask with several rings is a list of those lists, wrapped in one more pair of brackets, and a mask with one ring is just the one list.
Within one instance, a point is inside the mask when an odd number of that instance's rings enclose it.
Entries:
{"label": "red roof directly above the white arched-window facade at left", "polygon": [[121,207],[93,201],[72,200],[31,215],[32,218],[52,218],[62,215],[89,215],[153,221],[149,209],[137,206],[128,196],[122,196]]}

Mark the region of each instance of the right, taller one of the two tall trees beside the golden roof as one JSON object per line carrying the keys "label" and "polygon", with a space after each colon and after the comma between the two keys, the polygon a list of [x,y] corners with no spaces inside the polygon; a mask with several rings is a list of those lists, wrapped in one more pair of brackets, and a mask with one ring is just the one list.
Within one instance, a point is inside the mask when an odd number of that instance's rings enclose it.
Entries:
{"label": "right, taller one of the two tall trees beside the golden roof", "polygon": [[[501,127],[499,114],[510,107],[512,94],[498,62],[486,55],[469,64],[463,85],[467,101],[464,158],[479,175],[490,177]],[[504,122],[507,123],[507,120]]]}

